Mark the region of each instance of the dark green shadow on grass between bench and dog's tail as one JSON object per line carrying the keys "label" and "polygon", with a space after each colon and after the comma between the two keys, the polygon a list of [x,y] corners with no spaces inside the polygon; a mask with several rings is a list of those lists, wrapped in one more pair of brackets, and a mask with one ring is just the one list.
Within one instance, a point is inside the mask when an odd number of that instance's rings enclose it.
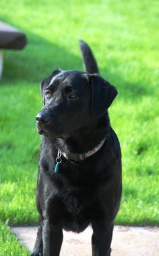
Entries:
{"label": "dark green shadow on grass between bench and dog's tail", "polygon": [[[57,68],[75,69],[82,60],[54,43],[29,32],[28,45],[23,51],[5,51],[3,82],[40,82]],[[73,66],[74,63],[74,66]],[[81,65],[80,65],[81,64]]]}

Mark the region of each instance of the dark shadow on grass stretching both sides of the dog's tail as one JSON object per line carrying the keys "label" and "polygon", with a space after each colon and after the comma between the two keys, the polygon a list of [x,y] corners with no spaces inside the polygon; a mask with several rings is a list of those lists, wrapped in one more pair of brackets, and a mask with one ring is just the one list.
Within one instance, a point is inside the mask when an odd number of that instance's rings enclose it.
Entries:
{"label": "dark shadow on grass stretching both sides of the dog's tail", "polygon": [[[9,20],[7,20],[9,23]],[[16,24],[10,22],[16,27]],[[82,58],[73,55],[69,49],[46,41],[46,39],[32,34],[25,28],[22,31],[28,37],[28,45],[23,51],[5,51],[4,73],[1,80],[2,85],[12,85],[20,82],[37,82],[51,74],[56,68],[62,70],[83,70]],[[78,50],[78,42],[75,41]],[[79,53],[79,50],[78,50]],[[96,53],[94,53],[96,55]],[[102,54],[102,53],[101,53]],[[100,63],[99,67],[100,67]],[[117,60],[107,61],[106,66],[119,66]],[[104,78],[115,81],[115,86],[119,91],[121,99],[125,101],[136,101],[144,95],[153,94],[147,82],[131,82],[124,79],[117,72],[110,72],[107,68],[101,70],[102,74],[106,74]],[[154,92],[155,93],[155,92]]]}

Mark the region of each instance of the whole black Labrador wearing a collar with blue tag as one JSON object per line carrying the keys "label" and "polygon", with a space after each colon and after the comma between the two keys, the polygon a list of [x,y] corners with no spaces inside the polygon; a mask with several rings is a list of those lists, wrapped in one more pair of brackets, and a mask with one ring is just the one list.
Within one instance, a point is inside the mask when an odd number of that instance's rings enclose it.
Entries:
{"label": "whole black Labrador wearing a collar with blue tag", "polygon": [[99,76],[88,45],[81,41],[80,47],[86,72],[55,70],[40,87],[40,221],[32,256],[59,256],[63,228],[82,232],[89,224],[92,255],[110,255],[121,200],[121,149],[107,109],[117,90]]}

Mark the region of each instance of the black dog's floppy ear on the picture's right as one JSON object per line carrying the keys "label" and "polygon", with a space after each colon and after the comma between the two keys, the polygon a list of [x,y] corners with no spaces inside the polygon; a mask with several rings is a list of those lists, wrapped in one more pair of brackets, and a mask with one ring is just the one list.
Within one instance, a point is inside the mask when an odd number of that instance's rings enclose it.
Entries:
{"label": "black dog's floppy ear on the picture's right", "polygon": [[92,83],[92,114],[101,118],[117,96],[117,89],[98,74],[90,75]]}

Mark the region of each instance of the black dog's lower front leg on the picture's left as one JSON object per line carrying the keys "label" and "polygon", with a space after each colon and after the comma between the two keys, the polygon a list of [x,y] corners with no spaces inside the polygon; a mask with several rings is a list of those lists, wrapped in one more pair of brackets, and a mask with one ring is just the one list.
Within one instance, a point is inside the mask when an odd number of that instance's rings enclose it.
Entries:
{"label": "black dog's lower front leg on the picture's left", "polygon": [[63,229],[58,224],[44,220],[42,227],[43,256],[59,256],[63,242]]}

